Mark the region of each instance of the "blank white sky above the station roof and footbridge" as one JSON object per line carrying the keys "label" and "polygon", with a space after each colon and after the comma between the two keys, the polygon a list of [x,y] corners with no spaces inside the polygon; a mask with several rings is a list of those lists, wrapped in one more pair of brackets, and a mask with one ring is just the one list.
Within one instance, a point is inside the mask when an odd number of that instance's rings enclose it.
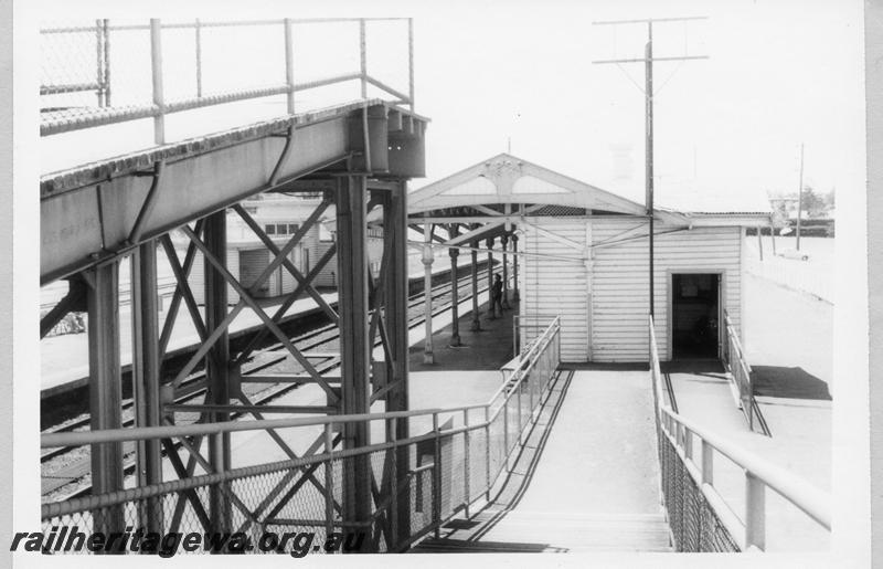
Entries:
{"label": "blank white sky above the station roof and footbridge", "polygon": [[[413,17],[415,109],[432,119],[427,177],[414,180],[413,188],[511,145],[515,156],[636,199],[643,194],[643,65],[593,61],[642,56],[647,30],[643,24],[593,22],[703,15],[708,20],[655,25],[656,56],[709,56],[655,65],[658,194],[710,186],[719,192],[796,191],[801,144],[806,185],[842,192],[864,180],[858,151],[864,144],[860,2],[377,1],[370,9],[341,2],[220,2],[206,9],[196,2],[175,10],[157,4],[161,8],[152,12],[89,3],[92,13],[74,10],[70,15],[67,4],[42,6],[25,17]],[[342,53],[344,67],[358,64],[352,49],[334,49],[351,48],[351,36],[337,43],[319,40],[302,42],[300,53],[336,60]],[[384,78],[404,88],[401,28],[370,32],[369,44],[376,54],[371,71],[382,74],[383,61],[392,61],[395,65]],[[244,71],[254,67],[254,59],[243,61]],[[277,108],[278,103],[265,102],[262,116]],[[232,120],[232,115],[224,119]],[[206,124],[226,124],[208,122],[204,115],[175,118],[185,119],[192,120],[181,137]],[[113,136],[100,143],[83,144],[66,135],[41,140],[42,171],[149,144],[147,123],[111,128]],[[140,135],[134,134],[136,128]]]}

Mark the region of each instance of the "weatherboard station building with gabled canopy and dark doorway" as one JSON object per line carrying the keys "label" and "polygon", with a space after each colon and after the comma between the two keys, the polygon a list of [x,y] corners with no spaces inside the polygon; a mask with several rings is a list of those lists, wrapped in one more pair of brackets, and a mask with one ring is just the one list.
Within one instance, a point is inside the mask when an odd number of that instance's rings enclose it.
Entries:
{"label": "weatherboard station building with gabled canopy and dark doorway", "polygon": [[[659,356],[717,359],[724,315],[742,330],[745,230],[770,224],[772,211],[748,189],[679,199],[653,210]],[[412,192],[408,214],[469,229],[448,244],[517,240],[520,314],[561,316],[562,361],[648,361],[645,204],[501,154]]]}

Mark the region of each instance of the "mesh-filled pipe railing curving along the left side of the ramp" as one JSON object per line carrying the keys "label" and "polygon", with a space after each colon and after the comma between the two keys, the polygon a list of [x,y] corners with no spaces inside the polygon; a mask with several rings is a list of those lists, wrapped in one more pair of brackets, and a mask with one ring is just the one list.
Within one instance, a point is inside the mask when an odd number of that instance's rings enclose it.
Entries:
{"label": "mesh-filled pipe railing curving along the left side of the ramp", "polygon": [[[524,354],[511,381],[487,403],[444,409],[358,415],[289,418],[247,422],[167,424],[44,434],[41,446],[106,445],[162,441],[170,457],[178,439],[191,464],[172,461],[179,480],[136,486],[115,493],[44,504],[46,530],[77,526],[121,531],[127,525],[153,531],[241,533],[252,544],[266,542],[267,531],[313,531],[317,542],[333,533],[360,529],[368,534],[364,551],[400,551],[439,530],[457,513],[488,499],[511,471],[511,457],[525,443],[556,378],[560,347],[556,318]],[[397,439],[402,421],[423,434]],[[372,444],[336,449],[342,425],[371,429]],[[200,442],[213,435],[266,433],[279,446],[300,440],[311,444],[286,460],[213,472],[202,459]],[[285,433],[285,434],[283,434]],[[94,446],[95,447],[95,446]],[[287,447],[287,446],[286,446]],[[204,474],[194,473],[194,465]],[[345,502],[359,489],[352,473],[359,465],[371,472],[370,512],[352,515]],[[396,474],[398,473],[398,474]],[[364,483],[364,481],[363,481]],[[355,484],[355,486],[353,486]],[[223,505],[219,497],[223,496]],[[210,529],[212,528],[212,529]],[[277,551],[255,547],[253,552]],[[294,544],[291,544],[291,547]]]}

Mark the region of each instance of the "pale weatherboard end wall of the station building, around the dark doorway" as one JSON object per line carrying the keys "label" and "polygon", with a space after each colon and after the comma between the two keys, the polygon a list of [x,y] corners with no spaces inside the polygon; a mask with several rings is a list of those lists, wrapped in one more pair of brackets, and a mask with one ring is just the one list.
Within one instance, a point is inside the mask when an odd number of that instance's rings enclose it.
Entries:
{"label": "pale weatherboard end wall of the station building, around the dark doorway", "polygon": [[[534,226],[539,230],[522,228],[528,255],[521,260],[521,313],[561,315],[562,361],[647,361],[647,222],[624,215],[543,219]],[[660,358],[668,360],[671,355],[674,273],[720,273],[723,305],[741,329],[742,229],[689,230],[657,222],[656,233],[655,322]]]}

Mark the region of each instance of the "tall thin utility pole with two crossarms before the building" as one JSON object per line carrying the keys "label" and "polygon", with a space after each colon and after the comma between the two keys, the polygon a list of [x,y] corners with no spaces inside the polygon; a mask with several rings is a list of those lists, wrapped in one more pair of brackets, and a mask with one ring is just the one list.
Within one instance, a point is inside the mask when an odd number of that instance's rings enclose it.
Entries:
{"label": "tall thin utility pole with two crossarms before the building", "polygon": [[650,222],[649,231],[649,281],[650,281],[650,316],[653,313],[653,62],[657,61],[684,61],[684,60],[706,60],[708,55],[680,55],[673,57],[653,57],[653,22],[684,22],[690,20],[706,20],[708,17],[694,15],[685,18],[653,18],[643,20],[616,20],[605,22],[593,22],[594,25],[623,25],[623,24],[647,24],[647,44],[643,50],[643,59],[619,59],[619,60],[597,60],[595,64],[616,64],[620,63],[643,63],[645,75],[645,206],[647,217]]}

